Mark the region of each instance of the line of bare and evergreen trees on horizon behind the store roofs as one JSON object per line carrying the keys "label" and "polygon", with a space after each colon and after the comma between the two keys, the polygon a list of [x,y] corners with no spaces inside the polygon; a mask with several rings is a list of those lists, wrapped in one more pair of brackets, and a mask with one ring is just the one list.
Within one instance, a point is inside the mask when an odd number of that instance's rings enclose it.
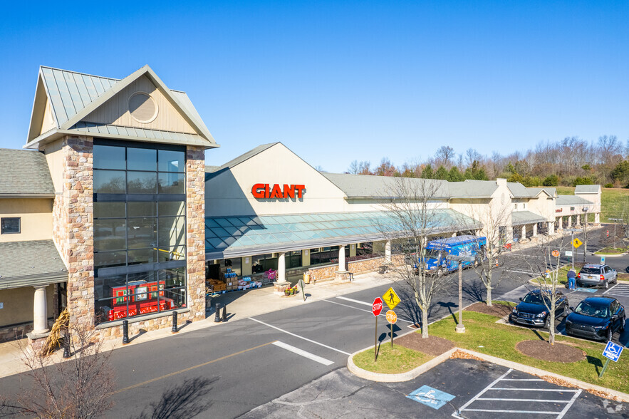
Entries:
{"label": "line of bare and evergreen trees on horizon behind the store roofs", "polygon": [[556,143],[541,142],[526,152],[482,155],[469,148],[457,153],[442,145],[435,155],[422,162],[404,162],[396,166],[388,157],[372,167],[368,161],[354,160],[347,172],[356,175],[421,177],[449,182],[494,180],[533,186],[576,186],[601,184],[605,187],[629,187],[629,140],[625,145],[615,135],[602,135],[597,141],[566,137]]}

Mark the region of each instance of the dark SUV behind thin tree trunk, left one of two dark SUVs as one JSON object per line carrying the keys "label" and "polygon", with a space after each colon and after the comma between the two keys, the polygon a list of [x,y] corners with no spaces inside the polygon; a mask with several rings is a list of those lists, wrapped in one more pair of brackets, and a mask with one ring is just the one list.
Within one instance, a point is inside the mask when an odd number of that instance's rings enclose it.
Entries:
{"label": "dark SUV behind thin tree trunk, left one of two dark SUVs", "polygon": [[[548,308],[551,305],[550,295],[550,291],[542,291],[541,289],[534,289],[529,292],[529,294],[520,299],[521,303],[511,311],[509,321],[516,324],[550,329],[551,316],[549,316]],[[561,316],[568,315],[568,299],[561,291],[556,291],[556,296],[555,319],[558,319]]]}

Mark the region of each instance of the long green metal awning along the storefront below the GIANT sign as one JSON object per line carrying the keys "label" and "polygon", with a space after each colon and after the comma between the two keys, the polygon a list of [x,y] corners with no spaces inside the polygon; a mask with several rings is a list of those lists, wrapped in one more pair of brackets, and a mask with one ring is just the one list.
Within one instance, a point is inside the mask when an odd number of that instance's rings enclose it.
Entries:
{"label": "long green metal awning along the storefront below the GIANT sign", "polygon": [[[433,209],[429,218],[432,234],[481,227],[453,209]],[[222,259],[372,242],[384,239],[380,226],[393,224],[390,212],[206,217],[205,252],[207,259]]]}

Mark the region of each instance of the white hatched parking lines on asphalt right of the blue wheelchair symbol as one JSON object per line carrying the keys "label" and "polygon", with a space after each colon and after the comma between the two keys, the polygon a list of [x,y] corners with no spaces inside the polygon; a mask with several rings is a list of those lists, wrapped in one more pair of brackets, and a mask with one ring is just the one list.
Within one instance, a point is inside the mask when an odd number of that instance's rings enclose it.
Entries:
{"label": "white hatched parking lines on asphalt right of the blue wheelchair symbol", "polygon": [[[493,383],[489,384],[489,386],[485,387],[480,393],[478,393],[477,395],[475,395],[471,400],[469,400],[467,403],[465,403],[464,405],[461,406],[461,408],[459,408],[459,410],[457,410],[456,412],[452,413],[452,416],[454,418],[462,418],[461,415],[463,411],[466,412],[494,412],[494,413],[520,413],[520,414],[527,414],[527,415],[556,415],[557,419],[561,419],[563,418],[563,415],[566,415],[566,412],[568,412],[568,410],[571,408],[571,406],[573,405],[573,403],[575,402],[575,400],[578,398],[578,396],[581,394],[581,390],[574,390],[571,388],[509,388],[509,387],[494,387],[496,386],[499,382],[501,381],[511,381],[511,382],[521,382],[522,384],[526,385],[526,383],[529,383],[531,381],[544,381],[541,380],[540,378],[506,378],[507,376],[509,376],[509,373],[511,373],[511,371],[513,371],[512,369],[509,369],[509,371],[506,371],[506,373],[504,373],[502,376],[500,376],[499,378],[497,378]],[[517,393],[514,394],[515,397],[506,397],[506,398],[500,398],[500,397],[482,397],[482,395],[484,395],[485,393],[487,393],[488,391],[492,391],[492,390],[497,390],[497,391],[505,391],[505,390],[509,390],[509,391],[514,391],[514,392],[530,392],[530,391],[535,391],[538,392],[539,395],[544,395],[544,394],[548,394],[548,393],[574,393],[574,395],[572,396],[572,398],[570,398],[570,400],[567,399],[558,399],[555,397],[551,398],[516,398],[517,397]],[[513,394],[513,393],[511,393]],[[474,408],[474,406],[472,407],[468,407],[470,405],[472,405],[472,403],[477,402],[477,401],[484,401],[484,402],[494,402],[493,405],[496,406],[495,409],[488,409],[488,408]],[[501,403],[501,402],[509,402],[509,403]],[[563,407],[563,409],[561,411],[556,411],[556,410],[512,410],[509,409],[509,407],[511,407],[512,402],[526,402],[526,403],[566,403],[566,405]],[[483,406],[484,407],[484,406]],[[534,407],[534,406],[531,406]]]}

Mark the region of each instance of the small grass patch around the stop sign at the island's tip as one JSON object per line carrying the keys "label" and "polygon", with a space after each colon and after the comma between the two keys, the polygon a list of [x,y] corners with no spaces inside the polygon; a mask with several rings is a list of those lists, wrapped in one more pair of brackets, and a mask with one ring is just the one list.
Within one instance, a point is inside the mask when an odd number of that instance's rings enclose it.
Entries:
{"label": "small grass patch around the stop sign at the island's tip", "polygon": [[373,373],[396,374],[411,371],[413,368],[417,368],[422,365],[422,363],[430,361],[432,358],[434,358],[434,356],[419,351],[413,351],[404,346],[395,345],[395,343],[392,349],[390,341],[385,341],[380,344],[378,362],[373,362],[372,347],[354,356],[354,363],[358,368],[363,368],[363,370]]}

